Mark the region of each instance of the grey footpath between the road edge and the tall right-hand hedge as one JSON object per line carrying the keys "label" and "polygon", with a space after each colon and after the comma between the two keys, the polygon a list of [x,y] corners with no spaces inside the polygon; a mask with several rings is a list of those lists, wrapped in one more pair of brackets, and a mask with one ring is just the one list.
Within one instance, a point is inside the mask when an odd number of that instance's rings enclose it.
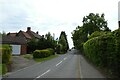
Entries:
{"label": "grey footpath between the road edge and the tall right-hand hedge", "polygon": [[80,77],[81,78],[106,78],[92,64],[90,64],[82,55],[80,57]]}

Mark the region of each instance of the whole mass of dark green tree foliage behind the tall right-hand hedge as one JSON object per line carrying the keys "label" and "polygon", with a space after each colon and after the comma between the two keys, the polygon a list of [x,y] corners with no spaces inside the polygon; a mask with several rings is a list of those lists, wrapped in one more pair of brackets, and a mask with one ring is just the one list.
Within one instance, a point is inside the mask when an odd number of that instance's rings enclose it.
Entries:
{"label": "whole mass of dark green tree foliage behind the tall right-hand hedge", "polygon": [[[82,52],[83,44],[88,40],[88,36],[95,31],[110,31],[107,27],[107,21],[104,18],[104,14],[99,15],[90,13],[88,16],[83,17],[83,25],[78,26],[72,32],[72,39],[75,48]],[[94,37],[94,35],[92,37]]]}

